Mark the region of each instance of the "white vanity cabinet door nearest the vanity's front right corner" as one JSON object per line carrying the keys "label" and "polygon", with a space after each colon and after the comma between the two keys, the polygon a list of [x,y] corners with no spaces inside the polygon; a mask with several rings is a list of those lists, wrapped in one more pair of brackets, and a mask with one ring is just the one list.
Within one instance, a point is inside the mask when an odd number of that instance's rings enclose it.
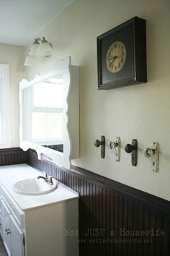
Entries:
{"label": "white vanity cabinet door nearest the vanity's front right corner", "polygon": [[24,256],[24,234],[12,215],[9,216],[11,231],[11,256]]}

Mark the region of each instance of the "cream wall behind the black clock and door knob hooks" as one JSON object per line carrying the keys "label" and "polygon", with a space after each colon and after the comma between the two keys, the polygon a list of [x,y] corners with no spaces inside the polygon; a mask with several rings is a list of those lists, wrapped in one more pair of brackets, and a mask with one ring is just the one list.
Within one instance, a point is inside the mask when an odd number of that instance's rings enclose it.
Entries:
{"label": "cream wall behind the black clock and door knob hooks", "polygon": [[[170,1],[169,0],[75,0],[40,36],[56,51],[55,57],[71,56],[80,66],[81,158],[73,164],[123,184],[170,200]],[[97,36],[138,16],[146,19],[148,82],[112,90],[97,90]],[[54,58],[54,57],[53,57]],[[28,77],[36,70],[28,69]],[[120,136],[121,161],[114,150],[100,149],[94,140]],[[138,140],[138,166],[131,166],[124,147]],[[160,143],[158,173],[143,149]]]}

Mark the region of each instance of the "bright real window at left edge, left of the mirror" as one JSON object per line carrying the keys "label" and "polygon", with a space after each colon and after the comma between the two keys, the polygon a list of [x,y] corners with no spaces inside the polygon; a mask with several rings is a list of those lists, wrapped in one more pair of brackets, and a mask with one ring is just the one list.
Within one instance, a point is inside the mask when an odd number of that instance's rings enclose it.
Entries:
{"label": "bright real window at left edge, left of the mirror", "polygon": [[0,148],[10,147],[9,65],[0,64]]}

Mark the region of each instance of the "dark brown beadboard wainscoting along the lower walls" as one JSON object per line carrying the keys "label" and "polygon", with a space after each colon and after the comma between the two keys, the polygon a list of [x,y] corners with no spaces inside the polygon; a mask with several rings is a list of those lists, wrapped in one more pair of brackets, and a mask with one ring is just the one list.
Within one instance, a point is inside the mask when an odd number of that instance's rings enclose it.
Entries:
{"label": "dark brown beadboard wainscoting along the lower walls", "polygon": [[66,236],[79,233],[79,256],[170,256],[169,201],[76,166],[58,168],[34,150],[0,150],[0,165],[14,163],[28,163],[79,192],[79,231],[66,230]]}

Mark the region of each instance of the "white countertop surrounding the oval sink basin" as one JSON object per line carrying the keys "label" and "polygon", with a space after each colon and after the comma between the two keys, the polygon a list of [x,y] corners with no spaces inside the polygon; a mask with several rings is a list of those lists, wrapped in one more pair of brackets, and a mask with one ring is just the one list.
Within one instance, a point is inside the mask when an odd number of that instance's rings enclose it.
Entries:
{"label": "white countertop surrounding the oval sink basin", "polygon": [[76,192],[58,184],[55,191],[45,195],[19,195],[12,190],[12,185],[22,179],[33,179],[42,175],[40,171],[28,166],[27,164],[17,164],[11,166],[0,166],[0,182],[13,200],[22,210],[31,210],[32,208],[40,208],[45,205],[55,204],[66,200],[79,198]]}

